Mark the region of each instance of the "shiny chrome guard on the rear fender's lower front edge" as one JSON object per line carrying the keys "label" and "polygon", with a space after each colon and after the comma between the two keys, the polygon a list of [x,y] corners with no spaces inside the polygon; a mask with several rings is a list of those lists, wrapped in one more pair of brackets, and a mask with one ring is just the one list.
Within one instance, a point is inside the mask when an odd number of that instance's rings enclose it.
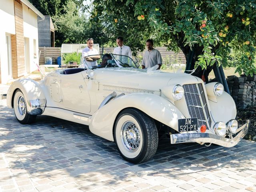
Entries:
{"label": "shiny chrome guard on the rear fender's lower front edge", "polygon": [[43,109],[45,108],[46,100],[45,99],[34,99],[28,100],[28,114],[30,115],[40,115],[43,113]]}

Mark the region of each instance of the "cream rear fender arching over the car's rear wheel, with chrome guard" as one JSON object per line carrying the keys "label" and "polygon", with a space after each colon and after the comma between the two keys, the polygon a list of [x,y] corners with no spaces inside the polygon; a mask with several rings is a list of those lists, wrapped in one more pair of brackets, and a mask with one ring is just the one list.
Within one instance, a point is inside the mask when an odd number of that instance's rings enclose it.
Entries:
{"label": "cream rear fender arching over the car's rear wheel, with chrome guard", "polygon": [[13,108],[13,98],[17,89],[20,89],[26,98],[28,114],[42,114],[46,106],[46,99],[38,82],[32,79],[20,79],[13,82],[6,97],[7,106],[9,108]]}

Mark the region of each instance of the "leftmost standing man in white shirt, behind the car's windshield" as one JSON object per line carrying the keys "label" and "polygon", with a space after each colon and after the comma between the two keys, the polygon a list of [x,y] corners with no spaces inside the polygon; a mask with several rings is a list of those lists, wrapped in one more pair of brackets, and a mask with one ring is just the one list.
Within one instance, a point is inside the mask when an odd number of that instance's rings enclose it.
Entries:
{"label": "leftmost standing man in white shirt, behind the car's windshield", "polygon": [[[88,65],[89,68],[97,66],[97,60],[100,59],[100,56],[98,54],[99,54],[98,50],[93,48],[93,39],[88,38],[87,47],[82,50],[82,57],[84,58],[86,56],[92,55],[90,57],[86,57],[86,61],[87,61],[86,64]],[[85,64],[83,65],[84,67],[86,67]]]}

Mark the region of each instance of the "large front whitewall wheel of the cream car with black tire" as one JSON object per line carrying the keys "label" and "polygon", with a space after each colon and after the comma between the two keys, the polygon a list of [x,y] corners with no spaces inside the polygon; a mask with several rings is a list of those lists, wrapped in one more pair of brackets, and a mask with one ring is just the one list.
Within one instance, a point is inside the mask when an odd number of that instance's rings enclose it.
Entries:
{"label": "large front whitewall wheel of the cream car with black tire", "polygon": [[150,160],[158,147],[154,120],[138,109],[125,109],[118,115],[114,139],[122,157],[135,164]]}

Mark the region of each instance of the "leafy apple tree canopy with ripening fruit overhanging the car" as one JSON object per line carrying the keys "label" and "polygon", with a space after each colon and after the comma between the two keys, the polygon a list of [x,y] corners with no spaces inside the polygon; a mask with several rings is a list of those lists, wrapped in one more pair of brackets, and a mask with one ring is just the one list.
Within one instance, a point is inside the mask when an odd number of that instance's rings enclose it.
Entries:
{"label": "leafy apple tree canopy with ripening fruit overhanging the car", "polygon": [[187,60],[194,49],[195,68],[227,66],[233,56],[240,74],[256,74],[255,0],[94,0],[91,14],[133,51],[153,38],[170,50],[180,48]]}

